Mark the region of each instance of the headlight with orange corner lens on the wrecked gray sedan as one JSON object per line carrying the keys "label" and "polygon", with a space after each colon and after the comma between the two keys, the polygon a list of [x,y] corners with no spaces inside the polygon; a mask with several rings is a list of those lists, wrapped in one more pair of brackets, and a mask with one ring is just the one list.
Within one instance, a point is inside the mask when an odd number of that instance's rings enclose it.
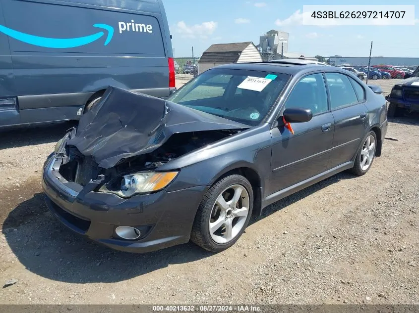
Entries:
{"label": "headlight with orange corner lens on the wrecked gray sedan", "polygon": [[178,172],[141,172],[131,175],[125,175],[120,183],[120,190],[109,190],[106,184],[99,191],[111,192],[123,198],[129,198],[136,193],[158,191],[166,187]]}

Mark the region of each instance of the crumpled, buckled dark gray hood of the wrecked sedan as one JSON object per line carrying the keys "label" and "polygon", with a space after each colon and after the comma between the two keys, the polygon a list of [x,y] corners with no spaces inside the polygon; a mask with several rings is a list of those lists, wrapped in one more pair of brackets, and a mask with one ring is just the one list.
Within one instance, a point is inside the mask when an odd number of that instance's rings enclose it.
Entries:
{"label": "crumpled, buckled dark gray hood of the wrecked sedan", "polygon": [[93,156],[100,167],[111,168],[121,159],[154,151],[172,134],[247,128],[167,100],[108,87],[102,100],[81,116],[67,144]]}

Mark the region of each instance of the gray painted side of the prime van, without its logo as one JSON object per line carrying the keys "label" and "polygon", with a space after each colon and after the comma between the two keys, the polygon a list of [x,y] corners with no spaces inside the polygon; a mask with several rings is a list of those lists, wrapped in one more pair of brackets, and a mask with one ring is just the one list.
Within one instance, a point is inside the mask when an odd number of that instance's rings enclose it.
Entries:
{"label": "gray painted side of the prime van, without its logo", "polygon": [[[114,27],[88,45],[46,48],[0,33],[0,99],[17,98],[13,110],[0,110],[0,128],[11,125],[78,119],[97,91],[108,86],[170,94],[168,57],[172,44],[161,0],[2,0],[0,24],[49,38],[77,38],[98,32],[92,25]],[[19,14],[16,14],[19,12]],[[120,32],[119,22],[149,24],[152,33]],[[105,30],[103,30],[106,33]],[[1,106],[1,104],[0,104]]]}

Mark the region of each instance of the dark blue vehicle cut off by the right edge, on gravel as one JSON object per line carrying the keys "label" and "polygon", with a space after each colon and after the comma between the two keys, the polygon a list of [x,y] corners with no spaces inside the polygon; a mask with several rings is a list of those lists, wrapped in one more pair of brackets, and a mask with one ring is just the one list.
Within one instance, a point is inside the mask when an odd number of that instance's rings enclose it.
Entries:
{"label": "dark blue vehicle cut off by the right edge, on gravel", "polygon": [[387,115],[399,117],[407,111],[419,111],[419,66],[413,74],[406,74],[403,81],[394,85],[386,97],[389,101]]}

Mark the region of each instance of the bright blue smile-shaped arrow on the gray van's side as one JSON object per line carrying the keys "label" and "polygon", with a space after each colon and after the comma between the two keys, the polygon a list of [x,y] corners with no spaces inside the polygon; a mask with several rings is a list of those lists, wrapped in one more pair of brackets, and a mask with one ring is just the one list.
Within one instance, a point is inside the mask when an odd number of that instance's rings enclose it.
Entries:
{"label": "bright blue smile-shaped arrow on the gray van's side", "polygon": [[[106,37],[105,44],[108,45],[114,36],[114,28],[107,24],[94,24],[93,27],[103,28],[108,31],[108,36]],[[39,37],[34,35],[29,35],[15,31],[13,29],[7,28],[0,25],[0,32],[6,34],[7,36],[14,38],[18,41],[24,42],[29,45],[37,45],[46,48],[74,48],[82,45],[87,45],[97,41],[99,38],[105,35],[104,32],[98,32],[93,35],[79,37],[79,38],[47,38]]]}

